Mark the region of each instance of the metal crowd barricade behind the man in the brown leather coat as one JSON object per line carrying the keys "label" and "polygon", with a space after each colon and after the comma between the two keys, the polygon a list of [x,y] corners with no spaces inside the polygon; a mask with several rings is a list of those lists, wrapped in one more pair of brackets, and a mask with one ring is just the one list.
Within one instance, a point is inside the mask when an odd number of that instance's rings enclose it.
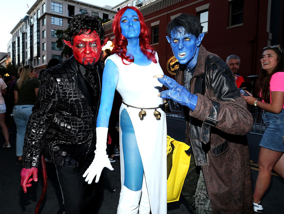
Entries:
{"label": "metal crowd barricade behind the man in the brown leather coat", "polygon": [[[167,118],[173,120],[185,120],[182,105],[171,99],[167,99],[167,101],[169,103],[170,109],[172,110],[171,113],[166,113]],[[254,125],[249,133],[255,135],[263,135],[266,127],[261,117],[262,110],[259,107],[249,105],[249,112],[251,112],[251,115],[254,118]]]}

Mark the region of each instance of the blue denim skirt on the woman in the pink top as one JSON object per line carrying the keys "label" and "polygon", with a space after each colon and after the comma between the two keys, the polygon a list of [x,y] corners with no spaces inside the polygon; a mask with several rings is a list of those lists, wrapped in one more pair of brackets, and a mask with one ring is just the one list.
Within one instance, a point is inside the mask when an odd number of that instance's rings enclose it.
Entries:
{"label": "blue denim skirt on the woman in the pink top", "polygon": [[259,146],[284,152],[284,109],[279,114],[264,111],[262,120],[266,125],[266,130]]}

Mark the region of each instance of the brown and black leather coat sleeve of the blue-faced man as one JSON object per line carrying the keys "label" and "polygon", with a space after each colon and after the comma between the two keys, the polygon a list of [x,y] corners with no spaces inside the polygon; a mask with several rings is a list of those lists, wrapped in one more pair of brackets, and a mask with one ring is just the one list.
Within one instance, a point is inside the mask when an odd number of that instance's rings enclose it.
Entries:
{"label": "brown and black leather coat sleeve of the blue-faced man", "polygon": [[196,108],[189,114],[199,120],[206,120],[212,114],[212,108],[215,108],[212,104],[213,100],[220,103],[218,107],[220,110],[215,117],[218,121],[215,127],[228,134],[246,135],[252,128],[253,118],[235,85],[232,71],[224,62],[208,67],[207,70],[210,73],[207,78],[210,89],[206,88],[206,94],[211,95],[197,94]]}

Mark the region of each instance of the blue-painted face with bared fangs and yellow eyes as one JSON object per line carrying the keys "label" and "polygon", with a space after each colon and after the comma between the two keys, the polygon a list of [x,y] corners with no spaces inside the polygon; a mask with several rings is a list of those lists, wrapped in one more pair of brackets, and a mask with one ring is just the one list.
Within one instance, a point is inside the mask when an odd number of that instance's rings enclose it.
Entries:
{"label": "blue-painted face with bared fangs and yellow eyes", "polygon": [[188,65],[196,54],[196,36],[186,33],[184,27],[177,27],[176,31],[171,31],[171,38],[167,37],[167,40],[179,63]]}

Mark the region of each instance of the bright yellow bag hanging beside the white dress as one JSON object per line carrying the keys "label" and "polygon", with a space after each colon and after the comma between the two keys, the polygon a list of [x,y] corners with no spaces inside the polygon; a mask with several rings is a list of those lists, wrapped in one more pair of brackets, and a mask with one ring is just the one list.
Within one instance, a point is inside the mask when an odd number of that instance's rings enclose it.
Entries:
{"label": "bright yellow bag hanging beside the white dress", "polygon": [[190,146],[167,135],[167,202],[178,201],[187,174],[190,156],[185,153]]}

